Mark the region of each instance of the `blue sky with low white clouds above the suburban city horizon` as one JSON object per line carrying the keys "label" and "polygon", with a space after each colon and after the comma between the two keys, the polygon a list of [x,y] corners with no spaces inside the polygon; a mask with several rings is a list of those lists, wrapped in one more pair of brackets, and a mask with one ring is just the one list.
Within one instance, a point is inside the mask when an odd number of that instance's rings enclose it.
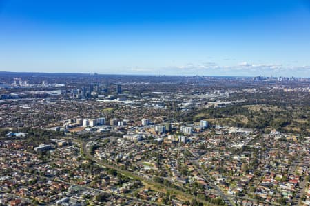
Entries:
{"label": "blue sky with low white clouds above the suburban city horizon", "polygon": [[310,77],[310,1],[0,0],[0,71]]}

